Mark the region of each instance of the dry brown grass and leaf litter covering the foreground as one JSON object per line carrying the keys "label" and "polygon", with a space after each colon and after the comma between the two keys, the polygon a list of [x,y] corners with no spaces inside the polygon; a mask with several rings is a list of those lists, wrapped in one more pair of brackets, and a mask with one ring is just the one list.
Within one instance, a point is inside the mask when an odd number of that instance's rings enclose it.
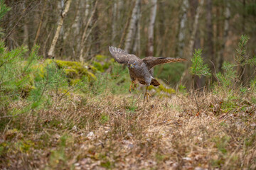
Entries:
{"label": "dry brown grass and leaf litter covering the foreground", "polygon": [[[72,96],[1,118],[2,169],[256,169],[256,106],[203,93]],[[248,102],[246,102],[248,101]],[[225,105],[227,106],[225,106]],[[18,107],[18,103],[16,103]]]}

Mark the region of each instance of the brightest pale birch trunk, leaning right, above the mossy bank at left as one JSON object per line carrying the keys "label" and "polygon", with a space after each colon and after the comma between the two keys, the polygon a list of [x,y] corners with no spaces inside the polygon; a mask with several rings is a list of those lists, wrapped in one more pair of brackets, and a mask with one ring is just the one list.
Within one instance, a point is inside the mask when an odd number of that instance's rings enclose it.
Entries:
{"label": "brightest pale birch trunk, leaning right, above the mossy bank at left", "polygon": [[53,38],[53,42],[50,45],[50,50],[48,51],[48,57],[55,57],[54,56],[54,50],[55,50],[56,42],[57,42],[58,37],[60,35],[60,30],[63,26],[63,20],[64,20],[65,16],[68,13],[68,9],[70,7],[71,1],[72,0],[67,0],[64,11],[62,13],[60,13],[60,18],[59,18],[59,21],[58,21],[58,27],[56,29],[56,32],[55,32],[55,35],[54,35],[54,38]]}

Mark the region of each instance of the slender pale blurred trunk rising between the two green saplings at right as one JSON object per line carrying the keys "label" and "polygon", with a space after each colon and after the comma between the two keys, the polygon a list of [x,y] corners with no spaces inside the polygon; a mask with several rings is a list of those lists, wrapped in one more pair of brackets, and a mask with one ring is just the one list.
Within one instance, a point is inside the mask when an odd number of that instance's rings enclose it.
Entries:
{"label": "slender pale blurred trunk rising between the two green saplings at right", "polygon": [[220,50],[218,51],[218,58],[217,58],[217,68],[218,72],[221,71],[223,65],[223,53],[225,50],[225,43],[228,39],[228,30],[229,30],[229,20],[230,20],[230,2],[227,1],[227,6],[225,7],[224,13],[225,21],[224,21],[224,32],[223,32],[223,41],[221,43]]}

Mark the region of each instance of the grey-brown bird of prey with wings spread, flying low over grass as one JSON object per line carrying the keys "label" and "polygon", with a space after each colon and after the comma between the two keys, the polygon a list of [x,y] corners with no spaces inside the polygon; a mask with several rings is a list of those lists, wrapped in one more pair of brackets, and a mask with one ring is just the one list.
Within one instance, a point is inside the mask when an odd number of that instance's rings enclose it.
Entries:
{"label": "grey-brown bird of prey with wings spread, flying low over grass", "polygon": [[[157,81],[150,70],[158,65],[165,64],[170,62],[184,62],[187,61],[183,58],[171,58],[171,57],[145,57],[144,59],[140,59],[136,55],[128,54],[126,51],[117,48],[117,47],[109,47],[111,55],[114,57],[114,60],[119,62],[120,64],[127,64],[129,68],[129,75],[131,77],[132,83],[129,86],[129,92],[134,90],[136,84],[144,84],[146,85],[146,92],[144,94],[144,101],[146,97],[146,101],[148,101],[148,96],[150,94],[147,92],[148,87],[150,85],[159,86],[159,81]],[[133,85],[134,84],[134,85]]]}

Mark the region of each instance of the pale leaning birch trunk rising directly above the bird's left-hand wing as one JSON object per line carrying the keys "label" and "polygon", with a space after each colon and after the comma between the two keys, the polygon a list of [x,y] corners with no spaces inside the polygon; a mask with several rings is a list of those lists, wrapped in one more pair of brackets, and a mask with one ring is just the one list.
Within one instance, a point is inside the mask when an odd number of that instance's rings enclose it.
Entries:
{"label": "pale leaning birch trunk rising directly above the bird's left-hand wing", "polygon": [[126,36],[125,42],[124,42],[124,50],[127,52],[130,52],[131,48],[132,48],[132,38],[134,38],[134,33],[136,32],[136,23],[138,20],[137,13],[139,11],[140,1],[141,0],[136,0],[135,6],[132,10],[132,17],[129,22],[129,29],[128,29],[128,33],[127,33],[127,36]]}

